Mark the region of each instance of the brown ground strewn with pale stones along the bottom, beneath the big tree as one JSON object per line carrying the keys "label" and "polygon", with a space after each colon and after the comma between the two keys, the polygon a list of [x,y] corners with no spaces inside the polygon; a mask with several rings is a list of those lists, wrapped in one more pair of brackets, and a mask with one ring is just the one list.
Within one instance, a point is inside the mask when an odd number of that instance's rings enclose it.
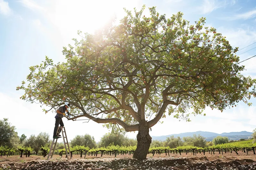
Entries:
{"label": "brown ground strewn with pale stones along the bottom, beneath the big tree", "polygon": [[[44,160],[39,157],[30,161],[0,161],[0,170],[250,170],[256,169],[256,155],[240,155],[240,157],[163,155],[149,156],[147,160],[139,161],[131,157],[117,158],[87,158],[70,160],[58,157]],[[248,156],[248,157],[246,157]],[[16,156],[17,157],[17,156]],[[76,157],[76,156],[74,156]],[[31,159],[31,158],[30,158]],[[1,159],[0,159],[1,160]],[[2,163],[2,164],[1,164]],[[2,168],[2,169],[1,169]]]}

